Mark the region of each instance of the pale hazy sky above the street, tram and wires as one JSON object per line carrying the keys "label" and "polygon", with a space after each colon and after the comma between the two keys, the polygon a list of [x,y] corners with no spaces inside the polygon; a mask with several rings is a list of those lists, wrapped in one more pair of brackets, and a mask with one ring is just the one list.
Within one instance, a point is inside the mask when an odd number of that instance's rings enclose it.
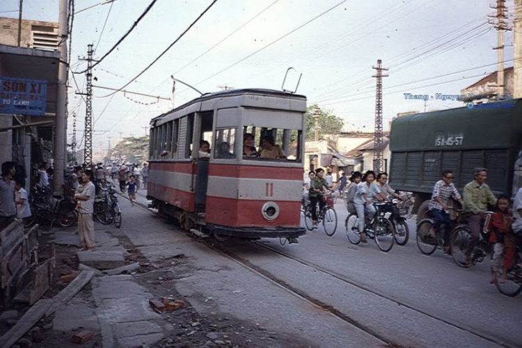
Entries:
{"label": "pale hazy sky above the street, tram and wires", "polygon": [[[75,11],[102,3],[76,0]],[[101,58],[116,44],[152,0],[116,0],[74,15],[71,67],[81,72],[87,45]],[[473,6],[470,3],[473,2]],[[18,0],[1,0],[0,16],[18,17]],[[185,31],[212,0],[157,0],[136,29],[93,70],[94,84],[121,88]],[[384,129],[397,113],[462,106],[437,99],[459,95],[496,70],[497,32],[488,24],[493,0],[217,0],[171,49],[125,89],[173,97],[173,81],[198,90],[286,89],[302,74],[297,93],[345,122],[346,131],[373,132],[377,60],[383,78]],[[512,23],[513,0],[507,0]],[[24,0],[24,19],[58,21],[58,0]],[[512,32],[505,34],[505,63],[512,66]],[[70,79],[68,135],[77,115],[83,145],[85,74]],[[288,82],[288,81],[287,81]],[[93,155],[119,139],[148,134],[150,119],[198,97],[176,85],[168,100],[93,89]],[[408,99],[405,93],[429,95]]]}

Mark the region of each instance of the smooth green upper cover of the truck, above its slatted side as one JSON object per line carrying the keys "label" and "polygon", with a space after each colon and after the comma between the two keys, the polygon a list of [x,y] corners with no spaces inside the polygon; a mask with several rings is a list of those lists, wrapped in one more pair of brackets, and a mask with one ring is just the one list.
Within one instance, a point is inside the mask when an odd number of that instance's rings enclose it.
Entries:
{"label": "smooth green upper cover of the truck, above its slatted side", "polygon": [[478,104],[393,120],[390,150],[441,150],[437,137],[463,137],[454,150],[519,148],[522,136],[522,99]]}

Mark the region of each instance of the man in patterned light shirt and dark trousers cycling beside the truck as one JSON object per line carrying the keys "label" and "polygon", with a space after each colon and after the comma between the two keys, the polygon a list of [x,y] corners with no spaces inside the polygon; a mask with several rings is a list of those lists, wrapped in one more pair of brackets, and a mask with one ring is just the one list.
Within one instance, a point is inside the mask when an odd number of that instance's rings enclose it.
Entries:
{"label": "man in patterned light shirt and dark trousers cycling beside the truck", "polygon": [[444,253],[450,252],[452,230],[452,221],[448,212],[448,199],[452,197],[461,205],[464,205],[459,191],[453,184],[453,178],[452,171],[443,171],[441,180],[438,180],[433,188],[432,200],[429,202],[429,214],[435,220],[434,230],[429,233],[432,238],[436,238],[439,228],[444,225]]}

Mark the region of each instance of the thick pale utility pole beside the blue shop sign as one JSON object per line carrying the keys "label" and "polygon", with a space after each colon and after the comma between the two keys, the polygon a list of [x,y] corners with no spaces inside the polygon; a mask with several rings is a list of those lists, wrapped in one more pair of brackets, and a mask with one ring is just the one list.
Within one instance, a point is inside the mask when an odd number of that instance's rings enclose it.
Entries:
{"label": "thick pale utility pole beside the blue shop sign", "polygon": [[56,120],[54,123],[54,180],[53,191],[57,195],[63,193],[63,171],[65,169],[65,147],[67,146],[67,72],[68,72],[68,1],[60,0],[58,18],[58,88],[56,92]]}

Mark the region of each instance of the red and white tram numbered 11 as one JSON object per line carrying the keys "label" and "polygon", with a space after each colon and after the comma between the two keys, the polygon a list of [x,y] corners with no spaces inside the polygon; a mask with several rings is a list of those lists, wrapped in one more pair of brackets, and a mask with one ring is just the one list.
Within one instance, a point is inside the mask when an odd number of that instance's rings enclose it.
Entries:
{"label": "red and white tram numbered 11", "polygon": [[[183,228],[216,237],[304,235],[305,113],[302,95],[238,89],[203,95],[153,118],[148,198]],[[200,151],[202,141],[209,153]],[[261,156],[247,157],[249,144]],[[274,147],[279,158],[269,158]]]}

